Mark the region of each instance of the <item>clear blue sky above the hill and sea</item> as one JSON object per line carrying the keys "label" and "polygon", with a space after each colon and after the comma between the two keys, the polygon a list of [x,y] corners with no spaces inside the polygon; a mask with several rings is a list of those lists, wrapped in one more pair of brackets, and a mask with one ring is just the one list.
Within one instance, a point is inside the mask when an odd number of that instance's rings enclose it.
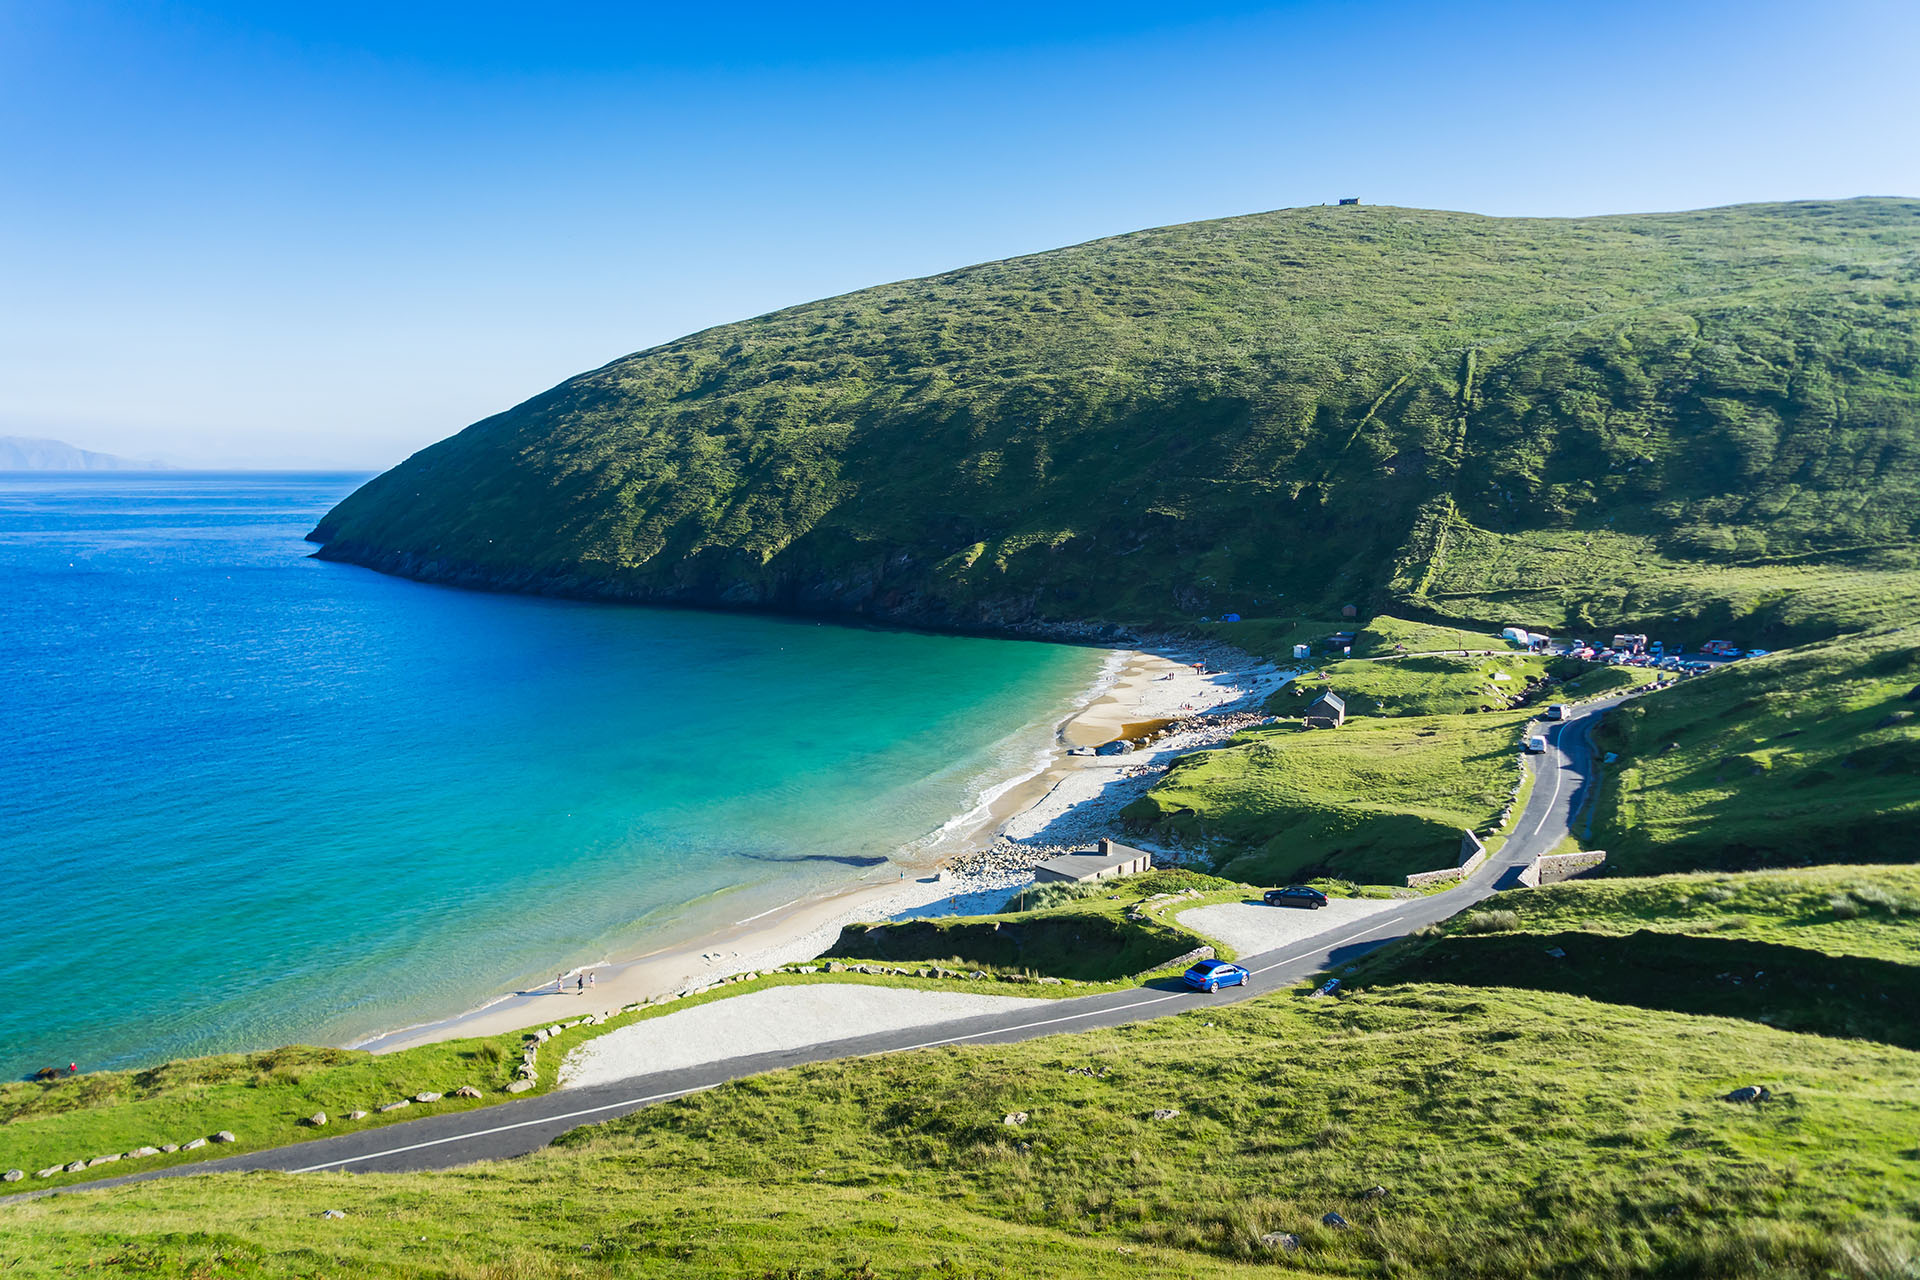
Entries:
{"label": "clear blue sky above the hill and sea", "polygon": [[0,434],[376,468],[707,324],[1140,226],[1920,196],[1916,54],[1910,0],[0,0]]}

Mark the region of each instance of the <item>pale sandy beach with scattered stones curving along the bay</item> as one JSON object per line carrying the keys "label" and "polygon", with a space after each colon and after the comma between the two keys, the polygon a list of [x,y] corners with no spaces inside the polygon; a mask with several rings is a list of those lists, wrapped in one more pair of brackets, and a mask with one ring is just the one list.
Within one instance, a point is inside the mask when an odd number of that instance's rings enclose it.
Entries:
{"label": "pale sandy beach with scattered stones curving along the bay", "polygon": [[[1196,672],[1194,662],[1206,662],[1208,672]],[[897,871],[897,881],[851,883],[806,894],[697,938],[676,938],[653,950],[568,969],[563,990],[545,983],[505,992],[465,1013],[382,1031],[346,1048],[388,1054],[520,1031],[559,1017],[612,1013],[733,973],[812,960],[851,923],[991,912],[1031,881],[1035,864],[1098,835],[1117,835],[1114,818],[1119,808],[1144,793],[1171,756],[1231,737],[1244,727],[1240,720],[1258,720],[1252,710],[1288,677],[1288,672],[1225,645],[1110,651],[1077,708],[1054,727],[1052,743],[1037,756],[1035,768],[987,787],[973,808],[897,850],[883,867],[889,875]],[[1129,727],[1219,712],[1233,712],[1231,727],[1206,722],[1131,754],[1071,754],[1114,741]],[[593,986],[576,992],[572,981],[582,973],[593,977]]]}

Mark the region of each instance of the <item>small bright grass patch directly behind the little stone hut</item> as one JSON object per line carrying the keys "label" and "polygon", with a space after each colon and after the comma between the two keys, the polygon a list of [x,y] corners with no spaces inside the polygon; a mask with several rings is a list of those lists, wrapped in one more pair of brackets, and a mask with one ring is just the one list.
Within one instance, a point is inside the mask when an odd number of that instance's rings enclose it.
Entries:
{"label": "small bright grass patch directly behind the little stone hut", "polygon": [[1321,689],[1346,700],[1348,716],[1457,716],[1482,710],[1503,712],[1526,693],[1530,681],[1546,676],[1546,658],[1534,654],[1415,654],[1379,662],[1350,658],[1332,662],[1321,679],[1302,679],[1267,700],[1277,716],[1302,716]]}

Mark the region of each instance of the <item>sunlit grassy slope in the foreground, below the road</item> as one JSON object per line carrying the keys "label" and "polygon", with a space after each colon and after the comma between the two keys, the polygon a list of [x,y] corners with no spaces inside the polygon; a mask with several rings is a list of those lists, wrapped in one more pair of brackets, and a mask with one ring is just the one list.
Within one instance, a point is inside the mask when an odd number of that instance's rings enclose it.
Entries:
{"label": "sunlit grassy slope in the foreground, below the road", "polygon": [[[1880,1280],[1914,1261],[1916,1077],[1905,1050],[1565,996],[1277,994],[755,1077],[505,1165],[8,1205],[0,1257],[19,1276],[1091,1278],[1279,1263]],[[1718,1100],[1747,1082],[1776,1100]],[[1029,1121],[1002,1125],[1012,1111]],[[1369,1199],[1373,1186],[1386,1194]],[[1329,1211],[1352,1228],[1319,1226]],[[1269,1253],[1267,1232],[1300,1251]]]}

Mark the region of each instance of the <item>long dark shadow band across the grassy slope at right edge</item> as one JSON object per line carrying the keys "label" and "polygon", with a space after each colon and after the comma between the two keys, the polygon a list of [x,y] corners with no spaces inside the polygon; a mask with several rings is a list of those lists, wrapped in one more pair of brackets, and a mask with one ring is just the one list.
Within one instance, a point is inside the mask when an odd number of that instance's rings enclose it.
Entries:
{"label": "long dark shadow band across the grassy slope at right edge", "polygon": [[1361,981],[1521,986],[1920,1050],[1920,969],[1745,938],[1645,929],[1450,936],[1409,942]]}

